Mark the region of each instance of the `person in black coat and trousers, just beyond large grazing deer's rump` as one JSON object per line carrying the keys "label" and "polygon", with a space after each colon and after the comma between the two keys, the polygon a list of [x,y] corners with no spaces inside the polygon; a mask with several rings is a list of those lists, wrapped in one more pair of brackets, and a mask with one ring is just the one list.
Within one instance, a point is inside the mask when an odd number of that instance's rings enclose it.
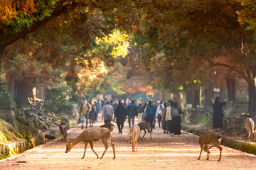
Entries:
{"label": "person in black coat and trousers, just beyond large grazing deer's rump", "polygon": [[124,128],[124,121],[127,118],[127,113],[123,106],[122,101],[118,102],[118,106],[114,111],[114,119],[116,119],[116,118],[117,118],[116,123],[117,123],[117,127],[119,130],[118,134],[120,134],[120,133],[122,134],[122,129]]}

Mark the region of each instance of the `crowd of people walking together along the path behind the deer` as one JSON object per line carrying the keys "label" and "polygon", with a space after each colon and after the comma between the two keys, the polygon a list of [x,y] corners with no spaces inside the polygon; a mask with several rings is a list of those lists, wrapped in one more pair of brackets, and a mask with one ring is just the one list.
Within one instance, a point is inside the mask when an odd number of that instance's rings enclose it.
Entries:
{"label": "crowd of people walking together along the path behind the deer", "polygon": [[110,101],[99,99],[93,103],[87,102],[86,98],[82,98],[82,104],[79,109],[82,126],[87,129],[89,123],[90,127],[97,122],[97,115],[102,110],[102,120],[104,123],[115,122],[122,134],[124,122],[127,120],[129,128],[134,125],[134,119],[138,119],[138,123],[146,121],[151,125],[151,131],[156,128],[156,120],[159,129],[162,129],[165,134],[181,135],[181,115],[183,111],[178,107],[178,102],[169,100],[167,102],[148,101],[144,104],[135,103],[134,99],[129,101]]}

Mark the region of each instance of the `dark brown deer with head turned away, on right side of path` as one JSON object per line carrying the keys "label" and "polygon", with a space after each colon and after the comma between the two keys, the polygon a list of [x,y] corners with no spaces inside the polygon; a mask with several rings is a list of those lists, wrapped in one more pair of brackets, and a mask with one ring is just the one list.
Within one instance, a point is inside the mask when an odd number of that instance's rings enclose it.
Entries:
{"label": "dark brown deer with head turned away, on right side of path", "polygon": [[[201,151],[198,157],[198,160],[201,158],[201,154],[202,151],[204,150],[205,152],[207,152],[207,159],[209,159],[209,154],[210,151],[209,149],[211,147],[218,147],[218,149],[220,149],[220,157],[218,159],[218,161],[220,161],[221,159],[221,152],[222,152],[222,147],[220,147],[220,142],[221,142],[221,135],[218,134],[218,132],[205,132],[202,135],[200,135],[199,139],[198,139],[198,143],[201,147]],[[210,144],[213,144],[213,146],[210,146]]]}

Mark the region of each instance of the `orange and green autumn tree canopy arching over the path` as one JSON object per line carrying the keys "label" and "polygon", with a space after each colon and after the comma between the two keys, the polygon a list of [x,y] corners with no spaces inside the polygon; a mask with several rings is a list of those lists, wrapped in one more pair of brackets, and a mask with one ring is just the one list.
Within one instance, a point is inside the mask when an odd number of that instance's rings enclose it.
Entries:
{"label": "orange and green autumn tree canopy arching over the path", "polygon": [[112,84],[119,93],[244,77],[255,111],[254,13],[252,0],[4,0],[1,67],[33,83],[65,75],[81,89]]}

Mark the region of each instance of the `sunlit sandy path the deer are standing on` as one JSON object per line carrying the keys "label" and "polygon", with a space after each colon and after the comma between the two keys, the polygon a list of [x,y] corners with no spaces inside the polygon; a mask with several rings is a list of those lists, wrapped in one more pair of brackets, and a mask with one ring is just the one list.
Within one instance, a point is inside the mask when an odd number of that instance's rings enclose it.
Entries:
{"label": "sunlit sandy path the deer are standing on", "polygon": [[[99,120],[94,127],[102,124],[102,120]],[[0,169],[256,169],[255,155],[228,147],[223,147],[220,162],[217,162],[219,150],[215,147],[210,149],[208,161],[206,152],[203,152],[201,160],[198,161],[200,147],[197,136],[182,132],[181,136],[171,137],[163,134],[159,128],[153,131],[152,140],[147,133],[144,140],[139,140],[137,152],[132,152],[127,127],[128,124],[125,123],[123,135],[118,134],[117,126],[114,127],[112,142],[116,148],[116,159],[112,159],[112,147],[107,150],[103,159],[97,159],[90,146],[85,158],[81,159],[85,147],[82,143],[75,145],[68,154],[65,154],[66,142],[55,142],[57,139],[1,160]],[[73,140],[82,131],[78,125],[77,128],[68,130],[68,135]],[[94,149],[101,156],[105,148],[102,142],[96,142]]]}

